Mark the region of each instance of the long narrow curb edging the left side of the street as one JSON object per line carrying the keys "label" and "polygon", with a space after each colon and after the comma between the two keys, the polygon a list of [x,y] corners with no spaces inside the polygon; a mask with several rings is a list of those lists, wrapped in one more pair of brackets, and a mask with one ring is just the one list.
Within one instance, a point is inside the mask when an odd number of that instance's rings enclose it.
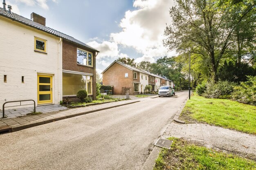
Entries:
{"label": "long narrow curb edging the left side of the street", "polygon": [[51,123],[51,122],[62,120],[62,119],[67,119],[67,118],[70,118],[70,117],[86,115],[88,113],[94,113],[94,112],[98,112],[98,111],[101,111],[101,110],[107,110],[107,109],[110,109],[110,108],[125,106],[125,105],[128,105],[128,104],[134,104],[134,103],[137,103],[137,102],[141,102],[141,101],[119,104],[119,105],[116,105],[116,106],[110,106],[110,107],[100,108],[100,109],[96,109],[96,110],[90,110],[90,111],[86,111],[86,112],[71,113],[71,115],[55,117],[55,118],[48,119],[48,120],[41,120],[41,121],[39,120],[39,121],[36,121],[34,123],[27,123],[27,124],[22,124],[22,125],[13,125],[13,126],[8,126],[8,127],[6,126],[4,129],[1,129],[1,132],[7,132],[7,131],[8,132],[15,132],[15,131],[26,129],[26,128],[30,128],[30,127],[34,127],[34,126],[38,126],[38,125],[42,125],[42,124],[47,124],[47,123]]}

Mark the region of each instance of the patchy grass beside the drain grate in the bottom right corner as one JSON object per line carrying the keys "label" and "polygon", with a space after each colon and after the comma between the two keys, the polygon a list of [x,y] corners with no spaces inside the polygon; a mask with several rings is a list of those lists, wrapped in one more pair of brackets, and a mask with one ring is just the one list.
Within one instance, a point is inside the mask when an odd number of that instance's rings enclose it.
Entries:
{"label": "patchy grass beside the drain grate in the bottom right corner", "polygon": [[171,149],[162,149],[154,170],[256,170],[256,161],[205,148],[171,137]]}

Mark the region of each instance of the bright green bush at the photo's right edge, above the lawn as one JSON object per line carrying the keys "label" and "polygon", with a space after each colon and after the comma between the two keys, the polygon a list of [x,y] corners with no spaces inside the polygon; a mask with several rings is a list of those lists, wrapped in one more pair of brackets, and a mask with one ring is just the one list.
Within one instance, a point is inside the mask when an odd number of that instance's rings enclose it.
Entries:
{"label": "bright green bush at the photo's right edge, above the lawn", "polygon": [[256,76],[247,76],[247,82],[241,82],[234,88],[232,99],[244,104],[256,106]]}

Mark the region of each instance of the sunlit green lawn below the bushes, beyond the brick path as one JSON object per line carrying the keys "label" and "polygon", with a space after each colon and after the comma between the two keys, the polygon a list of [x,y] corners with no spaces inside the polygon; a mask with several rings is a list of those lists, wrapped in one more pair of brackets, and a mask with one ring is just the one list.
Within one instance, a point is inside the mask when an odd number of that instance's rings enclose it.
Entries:
{"label": "sunlit green lawn below the bushes, beyond the brick path", "polygon": [[228,99],[207,99],[194,93],[182,110],[180,119],[205,122],[256,135],[256,106]]}

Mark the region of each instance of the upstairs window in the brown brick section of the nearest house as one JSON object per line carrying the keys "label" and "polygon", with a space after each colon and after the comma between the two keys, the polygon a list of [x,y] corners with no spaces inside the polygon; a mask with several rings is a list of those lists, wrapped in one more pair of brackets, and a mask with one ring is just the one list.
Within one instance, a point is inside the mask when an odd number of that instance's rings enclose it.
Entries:
{"label": "upstairs window in the brown brick section of the nearest house", "polygon": [[92,66],[92,53],[84,51],[82,49],[77,49],[76,52],[77,64]]}

